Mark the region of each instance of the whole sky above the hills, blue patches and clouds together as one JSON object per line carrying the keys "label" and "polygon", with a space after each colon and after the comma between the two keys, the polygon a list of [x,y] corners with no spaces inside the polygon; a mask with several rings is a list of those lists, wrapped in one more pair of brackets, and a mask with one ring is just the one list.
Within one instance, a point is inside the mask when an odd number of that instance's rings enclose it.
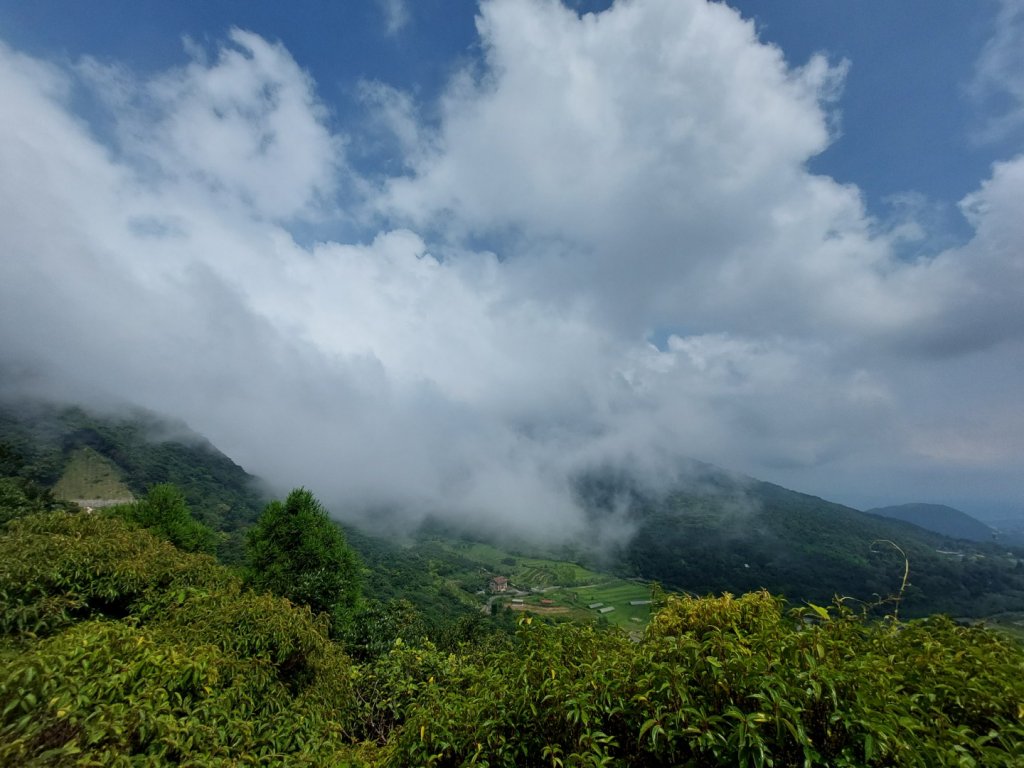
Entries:
{"label": "whole sky above the hills, blue patches and clouds together", "polygon": [[573,473],[690,456],[1024,511],[1019,0],[0,0],[0,43],[9,370],[339,509],[568,535]]}

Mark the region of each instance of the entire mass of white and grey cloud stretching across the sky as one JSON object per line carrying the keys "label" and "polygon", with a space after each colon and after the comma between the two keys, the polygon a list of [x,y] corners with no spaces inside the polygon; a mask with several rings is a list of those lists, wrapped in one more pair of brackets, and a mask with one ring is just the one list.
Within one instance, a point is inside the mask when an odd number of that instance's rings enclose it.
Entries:
{"label": "entire mass of white and grey cloud stretching across the sky", "polygon": [[[965,201],[970,243],[897,258],[905,232],[806,168],[844,66],[790,68],[705,2],[493,0],[479,29],[439,126],[366,86],[407,175],[358,201],[378,232],[310,246],[291,220],[370,186],[282,46],[233,31],[148,80],[0,49],[3,356],[180,416],[338,509],[569,535],[567,478],[594,464],[688,455],[856,502],[974,472],[986,440],[996,501],[1024,489],[999,427],[1024,160]],[[76,78],[109,94],[113,143],[75,116]]]}

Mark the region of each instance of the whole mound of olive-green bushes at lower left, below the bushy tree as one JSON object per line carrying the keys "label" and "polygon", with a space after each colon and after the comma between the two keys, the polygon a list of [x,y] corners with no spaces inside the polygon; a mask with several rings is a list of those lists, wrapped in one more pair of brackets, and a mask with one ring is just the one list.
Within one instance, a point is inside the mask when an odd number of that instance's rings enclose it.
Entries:
{"label": "whole mound of olive-green bushes at lower left, below the bushy tree", "polygon": [[209,557],[114,518],[29,517],[0,538],[0,765],[354,759],[327,617]]}

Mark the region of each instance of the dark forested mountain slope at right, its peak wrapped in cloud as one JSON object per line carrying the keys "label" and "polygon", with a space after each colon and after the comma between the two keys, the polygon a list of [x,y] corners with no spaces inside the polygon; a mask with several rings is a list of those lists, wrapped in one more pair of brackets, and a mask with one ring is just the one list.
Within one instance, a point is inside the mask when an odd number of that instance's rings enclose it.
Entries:
{"label": "dark forested mountain slope at right, its peak wrapped in cloud", "polygon": [[[1024,609],[1024,553],[951,543],[749,477],[695,465],[683,489],[654,495],[611,473],[581,481],[595,524],[628,500],[634,536],[615,553],[621,574],[696,594],[767,589],[794,600],[861,604],[898,592],[909,614],[986,615]],[[956,548],[955,550],[951,548]],[[951,553],[951,554],[950,554]]]}

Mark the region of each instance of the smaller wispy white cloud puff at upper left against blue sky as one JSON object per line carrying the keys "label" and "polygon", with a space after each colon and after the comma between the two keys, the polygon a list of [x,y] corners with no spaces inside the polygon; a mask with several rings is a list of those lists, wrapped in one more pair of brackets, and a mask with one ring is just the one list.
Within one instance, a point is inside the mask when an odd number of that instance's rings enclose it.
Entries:
{"label": "smaller wispy white cloud puff at upper left against blue sky", "polygon": [[333,199],[344,168],[313,83],[287,50],[243,30],[216,60],[193,60],[146,82],[86,59],[80,71],[116,110],[122,147],[163,181],[242,205],[257,216],[309,216]]}

